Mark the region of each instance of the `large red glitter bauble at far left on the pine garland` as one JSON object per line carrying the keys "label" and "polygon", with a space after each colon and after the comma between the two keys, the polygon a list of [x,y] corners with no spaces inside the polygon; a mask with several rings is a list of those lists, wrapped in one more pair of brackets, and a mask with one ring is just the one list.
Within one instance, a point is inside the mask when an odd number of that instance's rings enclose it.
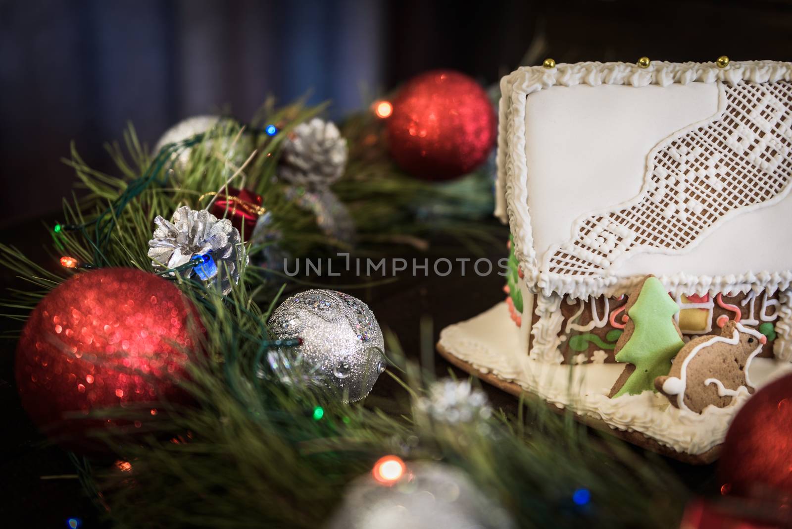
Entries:
{"label": "large red glitter bauble at far left on the pine garland", "polygon": [[22,330],[22,405],[79,449],[88,428],[122,424],[80,419],[94,409],[145,402],[153,417],[157,402],[186,402],[178,382],[202,333],[195,307],[169,281],[132,268],[82,272],[44,297]]}

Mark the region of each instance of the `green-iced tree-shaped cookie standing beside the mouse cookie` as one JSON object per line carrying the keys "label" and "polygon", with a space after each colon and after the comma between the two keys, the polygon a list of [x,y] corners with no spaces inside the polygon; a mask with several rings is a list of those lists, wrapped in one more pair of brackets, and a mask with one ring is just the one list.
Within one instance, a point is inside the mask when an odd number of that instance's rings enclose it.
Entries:
{"label": "green-iced tree-shaped cookie standing beside the mouse cookie", "polygon": [[614,397],[654,391],[654,379],[671,371],[671,360],[684,345],[673,320],[678,310],[663,284],[656,277],[646,278],[638,299],[627,311],[633,335],[616,353],[617,362],[632,363],[635,371]]}

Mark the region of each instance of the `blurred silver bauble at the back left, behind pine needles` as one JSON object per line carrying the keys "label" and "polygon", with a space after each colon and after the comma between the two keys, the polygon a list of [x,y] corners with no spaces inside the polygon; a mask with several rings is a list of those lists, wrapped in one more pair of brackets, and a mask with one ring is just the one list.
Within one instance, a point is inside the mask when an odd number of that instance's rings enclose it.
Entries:
{"label": "blurred silver bauble at the back left, behind pine needles", "polygon": [[[159,151],[162,150],[162,147],[165,147],[169,143],[181,143],[186,139],[192,138],[192,136],[203,134],[215,128],[218,133],[221,131],[228,132],[228,136],[224,137],[219,143],[225,158],[232,162],[234,166],[241,166],[249,154],[253,152],[253,145],[246,135],[240,135],[236,143],[234,143],[234,139],[236,138],[235,133],[238,131],[238,124],[230,118],[223,118],[221,116],[193,116],[188,117],[186,120],[181,120],[162,135],[154,146],[151,156],[157,156]],[[213,141],[212,139],[206,139],[204,147],[206,149],[211,149],[214,145]],[[173,166],[175,169],[180,171],[185,169],[189,162],[190,154],[192,154],[192,148],[193,147],[184,147],[173,154],[173,158],[175,158]]]}

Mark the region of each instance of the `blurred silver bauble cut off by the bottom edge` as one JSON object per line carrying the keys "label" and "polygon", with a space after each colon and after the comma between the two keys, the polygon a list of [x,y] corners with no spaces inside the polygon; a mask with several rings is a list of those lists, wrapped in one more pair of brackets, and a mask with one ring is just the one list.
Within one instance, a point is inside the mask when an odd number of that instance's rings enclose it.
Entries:
{"label": "blurred silver bauble cut off by the bottom edge", "polygon": [[462,471],[436,462],[408,462],[399,481],[371,474],[349,486],[328,529],[512,529],[504,508]]}

